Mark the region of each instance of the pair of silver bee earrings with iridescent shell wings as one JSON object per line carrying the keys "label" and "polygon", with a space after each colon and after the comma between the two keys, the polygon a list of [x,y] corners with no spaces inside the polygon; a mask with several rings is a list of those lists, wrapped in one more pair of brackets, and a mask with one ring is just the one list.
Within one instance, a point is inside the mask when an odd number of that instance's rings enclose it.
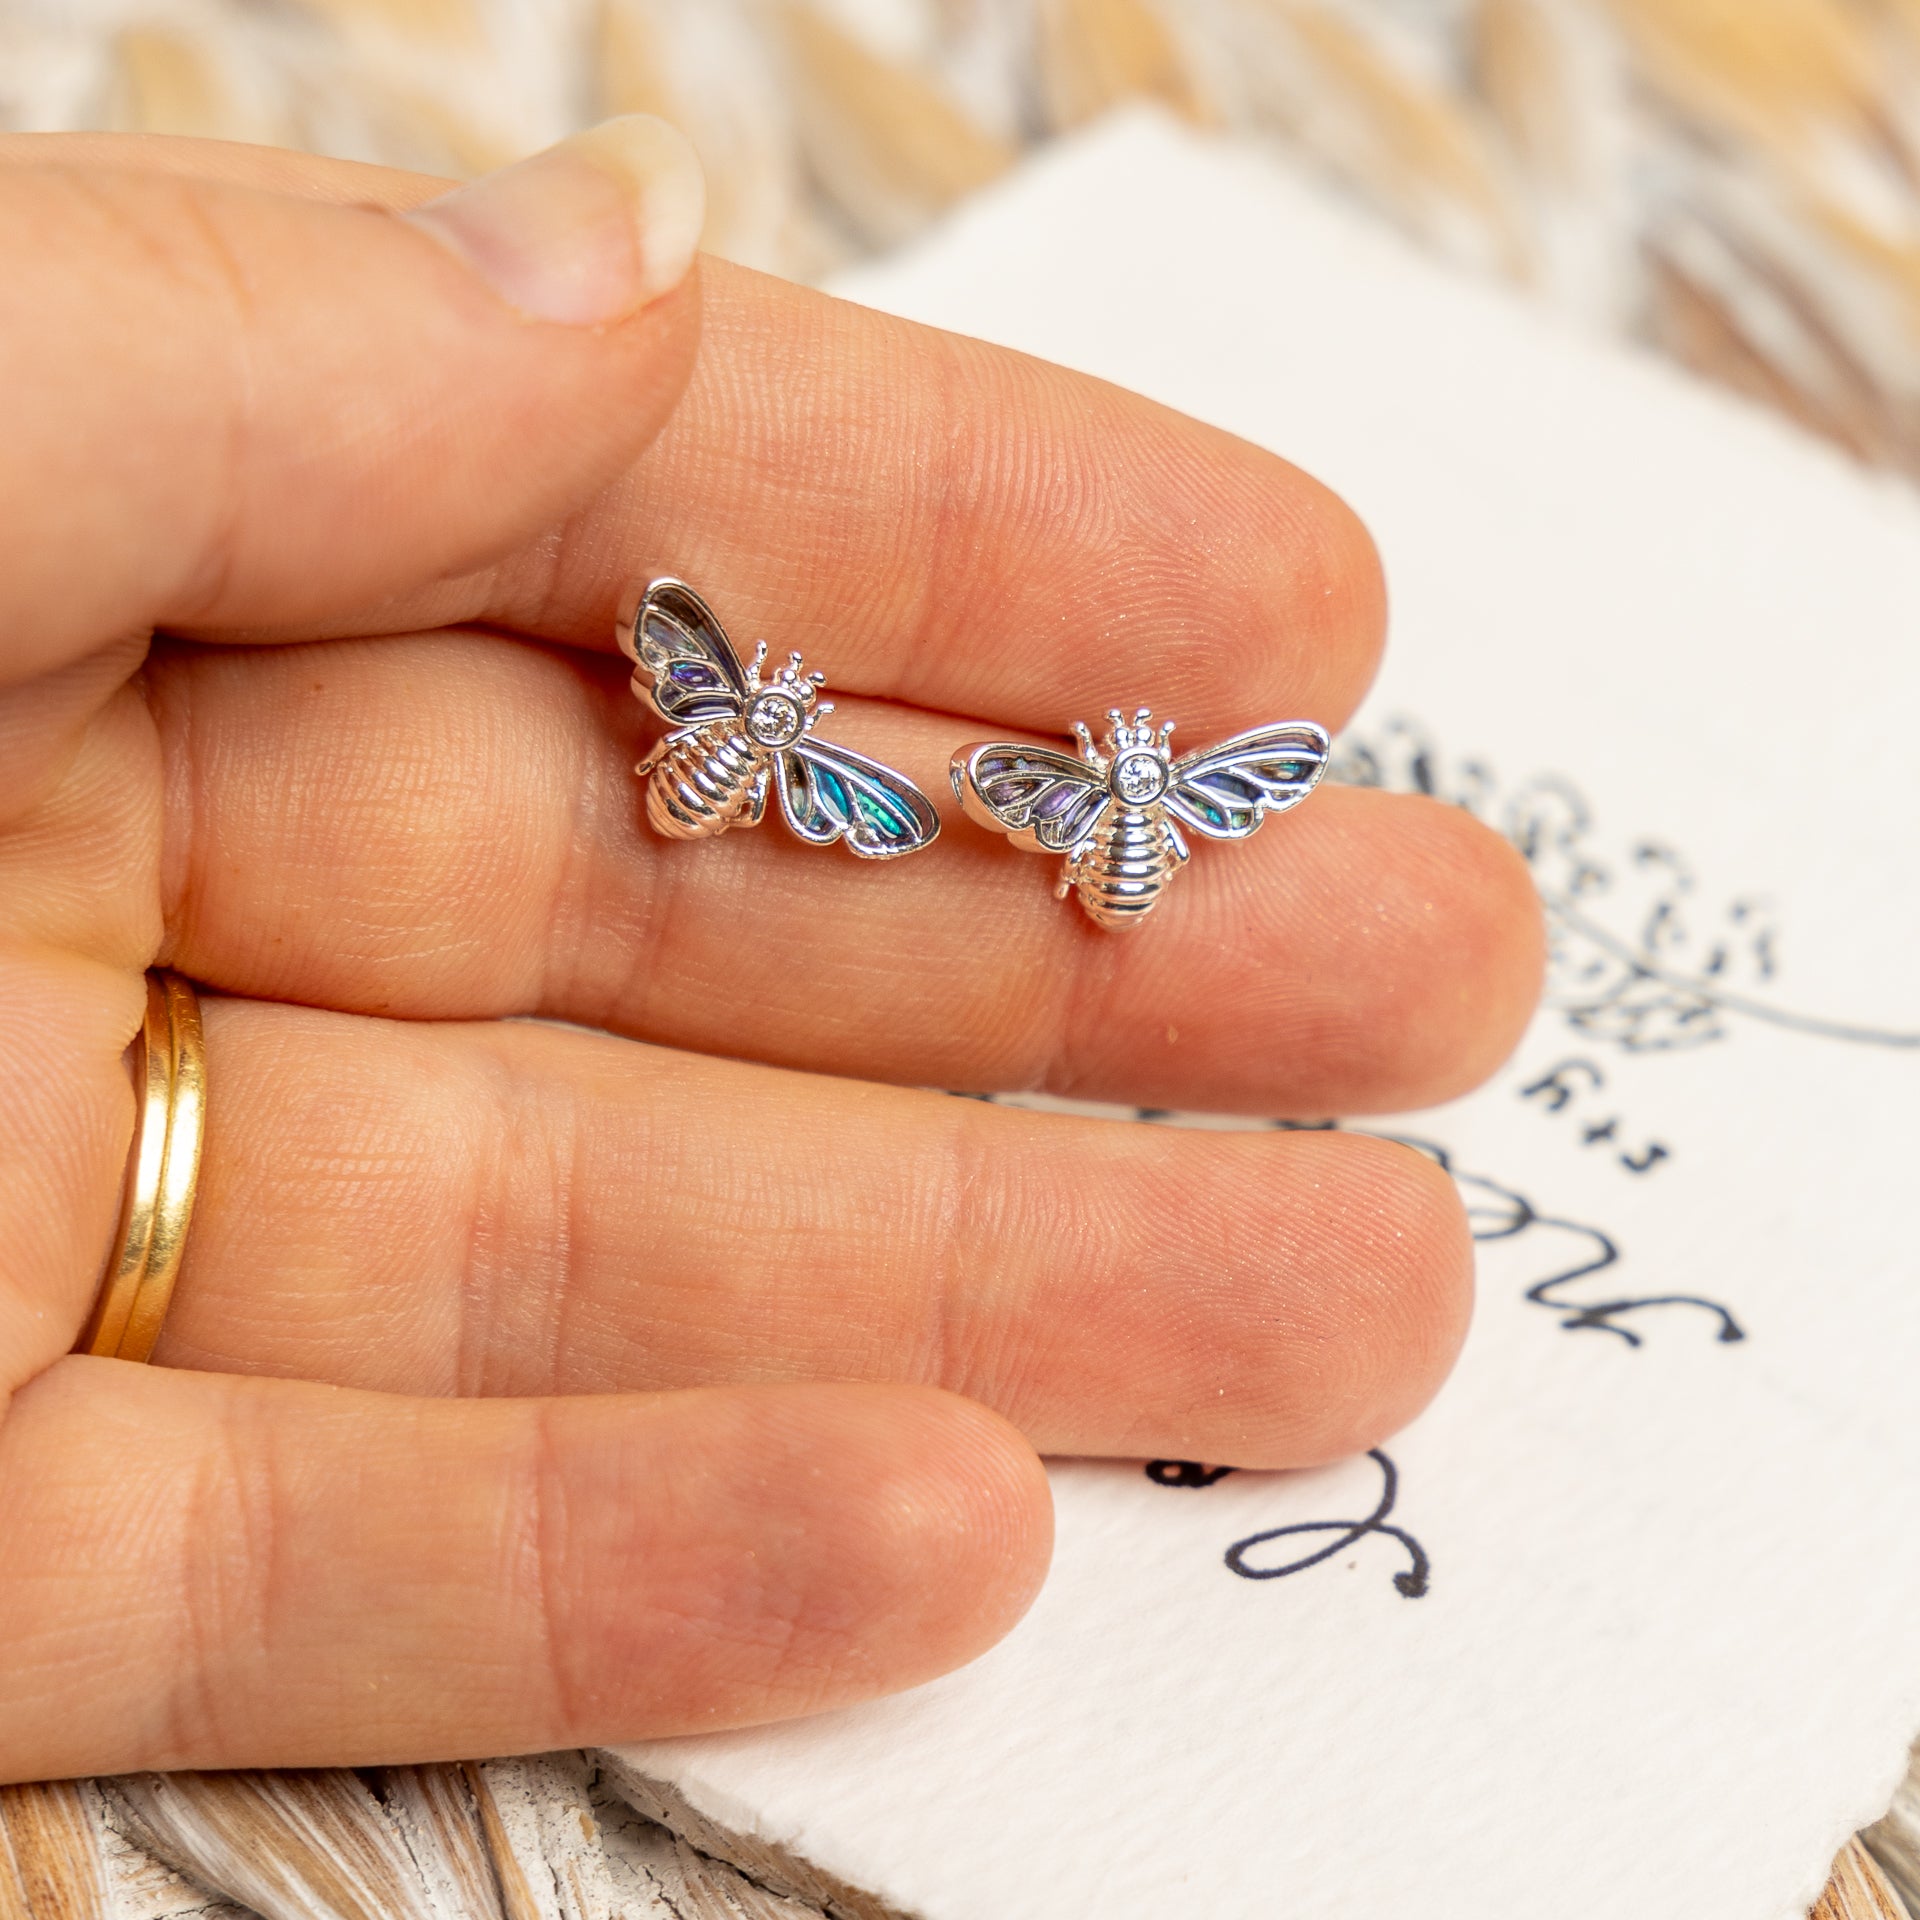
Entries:
{"label": "pair of silver bee earrings with iridescent shell wings", "polygon": [[[822,676],[801,657],[762,678],[766,641],[743,666],[712,609],[680,580],[655,580],[620,611],[620,651],[634,693],[668,732],[634,768],[647,781],[647,820],[668,839],[707,839],[758,826],[772,793],[787,826],[814,847],[845,839],[866,860],[931,845],[933,803],[904,774],[814,737],[833,710]],[[1235,733],[1175,760],[1169,720],[1117,710],[1104,751],[1085,724],[1079,753],[987,741],[952,760],[954,797],[970,820],[1031,852],[1066,860],[1054,893],[1079,893],[1102,927],[1135,925],[1188,858],[1190,828],[1246,839],[1267,814],[1298,806],[1327,768],[1327,732],[1311,720]]]}

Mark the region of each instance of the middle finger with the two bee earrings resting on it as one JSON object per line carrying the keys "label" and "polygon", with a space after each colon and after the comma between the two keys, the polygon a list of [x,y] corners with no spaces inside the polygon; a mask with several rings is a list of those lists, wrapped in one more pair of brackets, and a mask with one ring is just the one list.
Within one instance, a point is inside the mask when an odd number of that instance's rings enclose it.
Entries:
{"label": "middle finger with the two bee earrings resting on it", "polygon": [[[612,662],[463,636],[169,651],[173,964],[259,998],[551,1014],[705,1052],[1240,1112],[1428,1104],[1505,1056],[1540,972],[1524,866],[1455,808],[1329,787],[1200,841],[1096,931],[1058,862],[954,818],[862,862],[778,820],[643,824]],[[835,712],[947,799],[975,724]]]}

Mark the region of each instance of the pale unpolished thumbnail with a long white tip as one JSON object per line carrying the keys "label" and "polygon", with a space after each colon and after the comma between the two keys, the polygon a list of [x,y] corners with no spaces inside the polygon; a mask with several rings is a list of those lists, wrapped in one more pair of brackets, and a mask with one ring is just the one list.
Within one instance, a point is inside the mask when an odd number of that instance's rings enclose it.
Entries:
{"label": "pale unpolished thumbnail with a long white tip", "polygon": [[693,265],[707,182],[666,121],[626,113],[457,186],[405,219],[536,321],[603,326]]}

